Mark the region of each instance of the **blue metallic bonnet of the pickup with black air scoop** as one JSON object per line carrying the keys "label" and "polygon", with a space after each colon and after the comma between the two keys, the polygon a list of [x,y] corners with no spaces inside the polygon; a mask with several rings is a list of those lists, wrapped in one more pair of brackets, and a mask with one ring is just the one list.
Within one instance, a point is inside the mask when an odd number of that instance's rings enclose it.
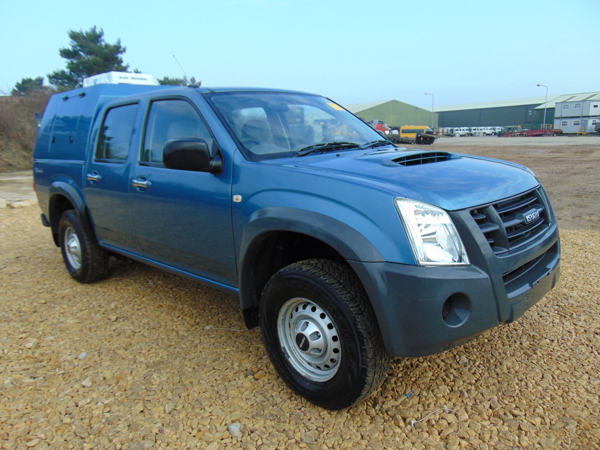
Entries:
{"label": "blue metallic bonnet of the pickup with black air scoop", "polygon": [[[439,157],[427,159],[431,154]],[[410,165],[414,157],[425,160]],[[404,158],[409,160],[407,165],[403,165]],[[505,161],[425,150],[331,152],[268,162],[373,181],[399,197],[431,203],[447,211],[491,203],[539,185],[528,170]]]}

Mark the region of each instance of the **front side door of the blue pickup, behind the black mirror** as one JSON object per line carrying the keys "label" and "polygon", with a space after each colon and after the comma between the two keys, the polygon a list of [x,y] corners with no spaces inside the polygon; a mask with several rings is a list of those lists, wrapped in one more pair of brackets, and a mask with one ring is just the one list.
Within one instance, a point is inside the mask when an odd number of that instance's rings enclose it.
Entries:
{"label": "front side door of the blue pickup, behind the black mirror", "polygon": [[191,101],[151,101],[139,161],[130,177],[131,215],[143,256],[236,286],[230,164],[216,174],[167,169],[164,146],[171,139],[185,138],[205,140],[212,155],[220,151]]}

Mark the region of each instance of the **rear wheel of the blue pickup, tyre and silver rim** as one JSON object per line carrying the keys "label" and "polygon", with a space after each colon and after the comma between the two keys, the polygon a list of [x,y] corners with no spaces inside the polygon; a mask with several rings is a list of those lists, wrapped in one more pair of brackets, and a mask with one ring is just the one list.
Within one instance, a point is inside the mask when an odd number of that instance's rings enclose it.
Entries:
{"label": "rear wheel of the blue pickup, tyre and silver rim", "polygon": [[79,283],[102,280],[109,274],[109,254],[98,245],[88,223],[74,209],[61,215],[59,246],[67,271]]}

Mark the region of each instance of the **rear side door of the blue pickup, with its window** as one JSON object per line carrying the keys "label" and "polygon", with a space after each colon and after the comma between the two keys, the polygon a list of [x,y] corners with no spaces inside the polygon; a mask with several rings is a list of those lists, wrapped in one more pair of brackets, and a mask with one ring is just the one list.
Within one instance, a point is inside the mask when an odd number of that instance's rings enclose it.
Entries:
{"label": "rear side door of the blue pickup, with its window", "polygon": [[129,205],[128,160],[137,103],[111,107],[92,131],[83,192],[98,240],[139,253]]}

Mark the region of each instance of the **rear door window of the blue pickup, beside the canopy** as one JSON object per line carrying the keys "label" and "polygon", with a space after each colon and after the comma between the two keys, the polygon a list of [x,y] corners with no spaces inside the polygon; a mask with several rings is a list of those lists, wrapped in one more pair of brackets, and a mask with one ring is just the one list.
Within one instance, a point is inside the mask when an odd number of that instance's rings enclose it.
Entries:
{"label": "rear door window of the blue pickup, beside the canopy", "polygon": [[124,161],[127,159],[137,104],[109,109],[100,128],[95,159]]}

